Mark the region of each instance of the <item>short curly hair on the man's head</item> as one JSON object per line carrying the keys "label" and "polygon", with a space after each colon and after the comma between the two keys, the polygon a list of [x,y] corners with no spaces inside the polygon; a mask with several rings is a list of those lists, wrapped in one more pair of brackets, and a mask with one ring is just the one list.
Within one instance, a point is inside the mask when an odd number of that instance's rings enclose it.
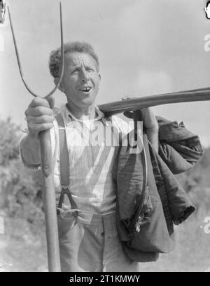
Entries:
{"label": "short curly hair on the man's head", "polygon": [[[97,64],[97,71],[99,71],[99,57],[94,52],[94,48],[90,45],[90,43],[74,41],[70,43],[64,43],[64,53],[87,53],[91,55]],[[57,50],[52,50],[50,53],[50,60],[49,60],[49,69],[50,74],[57,78],[59,77],[60,73],[60,60],[61,60],[61,48],[57,48]]]}

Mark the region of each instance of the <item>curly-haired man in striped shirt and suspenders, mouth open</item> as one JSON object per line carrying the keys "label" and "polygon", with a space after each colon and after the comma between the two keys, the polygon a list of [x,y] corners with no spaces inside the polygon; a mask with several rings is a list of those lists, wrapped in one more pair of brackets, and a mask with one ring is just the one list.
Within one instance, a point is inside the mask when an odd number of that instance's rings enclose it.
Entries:
{"label": "curly-haired man in striped shirt and suspenders, mouth open", "polygon": [[[50,55],[50,73],[55,84],[59,77],[60,50]],[[117,76],[116,76],[117,80]],[[101,75],[99,59],[88,43],[64,45],[64,76],[59,90],[67,103],[59,111],[66,129],[69,152],[69,196],[71,205],[61,200],[59,131],[49,102],[36,97],[25,111],[28,135],[21,142],[22,161],[29,167],[41,165],[38,133],[50,129],[55,162],[55,190],[59,208],[58,228],[62,271],[139,271],[139,264],[123,250],[116,229],[116,187],[113,184],[113,163],[117,146],[92,142],[95,126],[113,126],[125,135],[125,121],[117,116],[105,118],[94,104]],[[143,114],[145,128],[158,150],[158,123],[149,109]],[[127,131],[128,132],[128,131]],[[76,144],[85,137],[86,144]],[[77,219],[72,209],[78,210]]]}

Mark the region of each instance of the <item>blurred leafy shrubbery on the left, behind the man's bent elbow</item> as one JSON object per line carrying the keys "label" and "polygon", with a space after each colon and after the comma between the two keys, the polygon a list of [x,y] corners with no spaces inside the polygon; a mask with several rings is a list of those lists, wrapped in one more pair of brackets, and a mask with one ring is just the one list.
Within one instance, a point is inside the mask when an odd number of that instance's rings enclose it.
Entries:
{"label": "blurred leafy shrubbery on the left, behind the man's bent elbow", "polygon": [[8,119],[0,121],[0,208],[9,216],[43,221],[41,172],[25,168],[20,161],[19,128]]}

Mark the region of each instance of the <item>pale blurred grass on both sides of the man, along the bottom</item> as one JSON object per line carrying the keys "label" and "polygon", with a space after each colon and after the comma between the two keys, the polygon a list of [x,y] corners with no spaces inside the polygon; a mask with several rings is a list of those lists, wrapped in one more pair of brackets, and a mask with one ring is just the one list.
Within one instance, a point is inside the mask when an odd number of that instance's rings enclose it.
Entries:
{"label": "pale blurred grass on both sides of the man, along the bottom", "polygon": [[[186,222],[176,226],[175,250],[160,254],[156,262],[141,263],[141,271],[210,271],[210,233],[204,232],[205,217],[210,217],[206,198]],[[43,222],[33,225],[24,219],[5,217],[0,252],[0,271],[48,271]]]}

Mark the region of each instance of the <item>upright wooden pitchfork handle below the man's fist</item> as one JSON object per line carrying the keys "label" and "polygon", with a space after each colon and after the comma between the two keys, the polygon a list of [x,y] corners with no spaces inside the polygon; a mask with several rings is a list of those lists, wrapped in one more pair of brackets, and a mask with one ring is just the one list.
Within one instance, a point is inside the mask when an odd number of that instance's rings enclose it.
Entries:
{"label": "upright wooden pitchfork handle below the man's fist", "polygon": [[39,137],[41,144],[41,163],[43,172],[43,205],[45,211],[45,232],[48,248],[48,269],[50,272],[60,272],[59,240],[57,231],[50,130],[40,132]]}

